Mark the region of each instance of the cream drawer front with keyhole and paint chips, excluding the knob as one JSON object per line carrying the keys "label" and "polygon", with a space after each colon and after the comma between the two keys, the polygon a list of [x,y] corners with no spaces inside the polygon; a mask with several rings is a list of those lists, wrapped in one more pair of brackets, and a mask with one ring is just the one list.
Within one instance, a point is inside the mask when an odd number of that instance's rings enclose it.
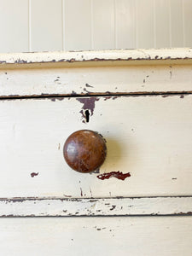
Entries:
{"label": "cream drawer front with keyhole and paint chips, excluding the knob", "polygon": [[[83,101],[90,102],[89,123],[80,113]],[[2,100],[0,195],[190,195],[191,108],[191,95]],[[101,173],[131,172],[131,177],[100,180],[97,173],[73,172],[62,147],[80,129],[107,139]],[[31,177],[32,172],[38,176]]]}

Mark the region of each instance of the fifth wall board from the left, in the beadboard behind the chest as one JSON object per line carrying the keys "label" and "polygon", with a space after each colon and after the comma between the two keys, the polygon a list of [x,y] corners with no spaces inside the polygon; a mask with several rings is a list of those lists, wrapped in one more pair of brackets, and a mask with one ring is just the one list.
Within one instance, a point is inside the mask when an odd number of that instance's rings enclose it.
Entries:
{"label": "fifth wall board from the left, in the beadboard behind the chest", "polygon": [[134,0],[116,1],[116,32],[118,49],[136,48],[136,17]]}

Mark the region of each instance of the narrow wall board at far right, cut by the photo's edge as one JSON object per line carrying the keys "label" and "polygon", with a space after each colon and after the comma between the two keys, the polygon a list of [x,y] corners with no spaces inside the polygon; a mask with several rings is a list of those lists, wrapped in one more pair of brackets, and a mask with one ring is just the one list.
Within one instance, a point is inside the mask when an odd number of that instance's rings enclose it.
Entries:
{"label": "narrow wall board at far right, cut by the photo's edge", "polygon": [[192,46],[192,1],[183,0],[184,47]]}

